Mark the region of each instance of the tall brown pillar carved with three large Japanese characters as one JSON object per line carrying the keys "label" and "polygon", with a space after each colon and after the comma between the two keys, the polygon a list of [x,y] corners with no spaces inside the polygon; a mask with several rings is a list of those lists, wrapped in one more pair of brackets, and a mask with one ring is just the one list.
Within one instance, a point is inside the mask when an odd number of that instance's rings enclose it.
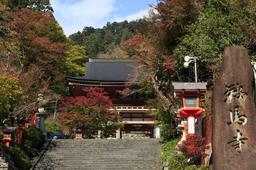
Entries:
{"label": "tall brown pillar carved with three large Japanese characters", "polygon": [[248,51],[228,47],[212,94],[214,170],[256,169],[255,81]]}

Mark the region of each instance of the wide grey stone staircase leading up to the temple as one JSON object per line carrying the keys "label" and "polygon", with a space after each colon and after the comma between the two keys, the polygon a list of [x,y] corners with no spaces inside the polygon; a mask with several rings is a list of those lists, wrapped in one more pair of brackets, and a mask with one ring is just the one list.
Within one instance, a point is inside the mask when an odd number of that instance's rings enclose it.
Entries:
{"label": "wide grey stone staircase leading up to the temple", "polygon": [[36,170],[159,170],[159,139],[52,140]]}

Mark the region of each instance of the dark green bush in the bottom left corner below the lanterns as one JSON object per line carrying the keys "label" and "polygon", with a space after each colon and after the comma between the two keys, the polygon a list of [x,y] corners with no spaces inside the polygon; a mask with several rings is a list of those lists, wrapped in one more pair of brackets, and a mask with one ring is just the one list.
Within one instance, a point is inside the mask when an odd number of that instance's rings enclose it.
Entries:
{"label": "dark green bush in the bottom left corner below the lanterns", "polygon": [[14,166],[19,170],[27,170],[30,166],[30,161],[26,153],[18,146],[18,144],[12,142],[9,147],[0,142],[0,146],[4,148],[6,154],[10,155],[10,159],[14,162]]}

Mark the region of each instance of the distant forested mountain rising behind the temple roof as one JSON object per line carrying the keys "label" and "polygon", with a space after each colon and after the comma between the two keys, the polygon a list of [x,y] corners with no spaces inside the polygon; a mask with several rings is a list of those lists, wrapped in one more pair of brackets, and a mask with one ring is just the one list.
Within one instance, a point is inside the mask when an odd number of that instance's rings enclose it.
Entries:
{"label": "distant forested mountain rising behind the temple roof", "polygon": [[[113,51],[120,42],[126,41],[138,34],[138,29],[145,24],[139,19],[128,22],[107,22],[103,28],[84,27],[82,32],[71,34],[68,38],[78,45],[84,45],[86,55],[91,58],[115,57]],[[117,56],[116,56],[117,57]]]}

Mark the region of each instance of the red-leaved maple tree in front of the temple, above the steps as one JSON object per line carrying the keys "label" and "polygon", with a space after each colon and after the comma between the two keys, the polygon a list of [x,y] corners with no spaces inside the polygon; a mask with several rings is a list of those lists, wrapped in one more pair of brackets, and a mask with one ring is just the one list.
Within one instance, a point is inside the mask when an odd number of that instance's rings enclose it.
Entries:
{"label": "red-leaved maple tree in front of the temple, above the steps", "polygon": [[101,131],[107,138],[122,126],[121,118],[116,111],[110,110],[112,101],[104,89],[98,87],[85,88],[86,96],[66,97],[62,103],[60,117],[70,131],[74,127],[82,128],[87,136]]}

